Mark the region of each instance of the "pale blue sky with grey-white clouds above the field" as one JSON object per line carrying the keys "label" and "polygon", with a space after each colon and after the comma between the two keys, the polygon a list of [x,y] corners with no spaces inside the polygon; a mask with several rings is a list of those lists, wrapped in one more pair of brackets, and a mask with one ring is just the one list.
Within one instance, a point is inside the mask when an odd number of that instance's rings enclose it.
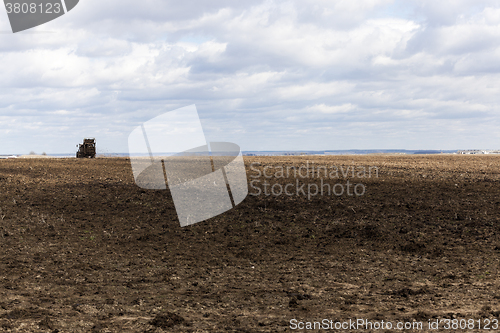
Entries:
{"label": "pale blue sky with grey-white clouds above the field", "polygon": [[80,0],[13,34],[0,8],[0,154],[126,153],[195,104],[242,150],[499,149],[493,0]]}

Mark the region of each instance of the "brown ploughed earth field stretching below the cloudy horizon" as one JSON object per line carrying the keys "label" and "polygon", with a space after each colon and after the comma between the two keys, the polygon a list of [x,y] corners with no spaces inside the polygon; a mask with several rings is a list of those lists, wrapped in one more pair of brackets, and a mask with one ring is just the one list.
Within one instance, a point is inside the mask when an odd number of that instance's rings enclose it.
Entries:
{"label": "brown ploughed earth field stretching below the cloudy horizon", "polygon": [[307,161],[378,177],[339,171],[324,183],[362,183],[364,195],[249,195],[181,228],[170,193],[137,187],[125,158],[1,160],[0,331],[284,332],[292,319],[358,318],[494,328],[500,156],[245,158],[249,181],[250,163],[292,172],[261,176],[261,190],[320,184],[294,177]]}

